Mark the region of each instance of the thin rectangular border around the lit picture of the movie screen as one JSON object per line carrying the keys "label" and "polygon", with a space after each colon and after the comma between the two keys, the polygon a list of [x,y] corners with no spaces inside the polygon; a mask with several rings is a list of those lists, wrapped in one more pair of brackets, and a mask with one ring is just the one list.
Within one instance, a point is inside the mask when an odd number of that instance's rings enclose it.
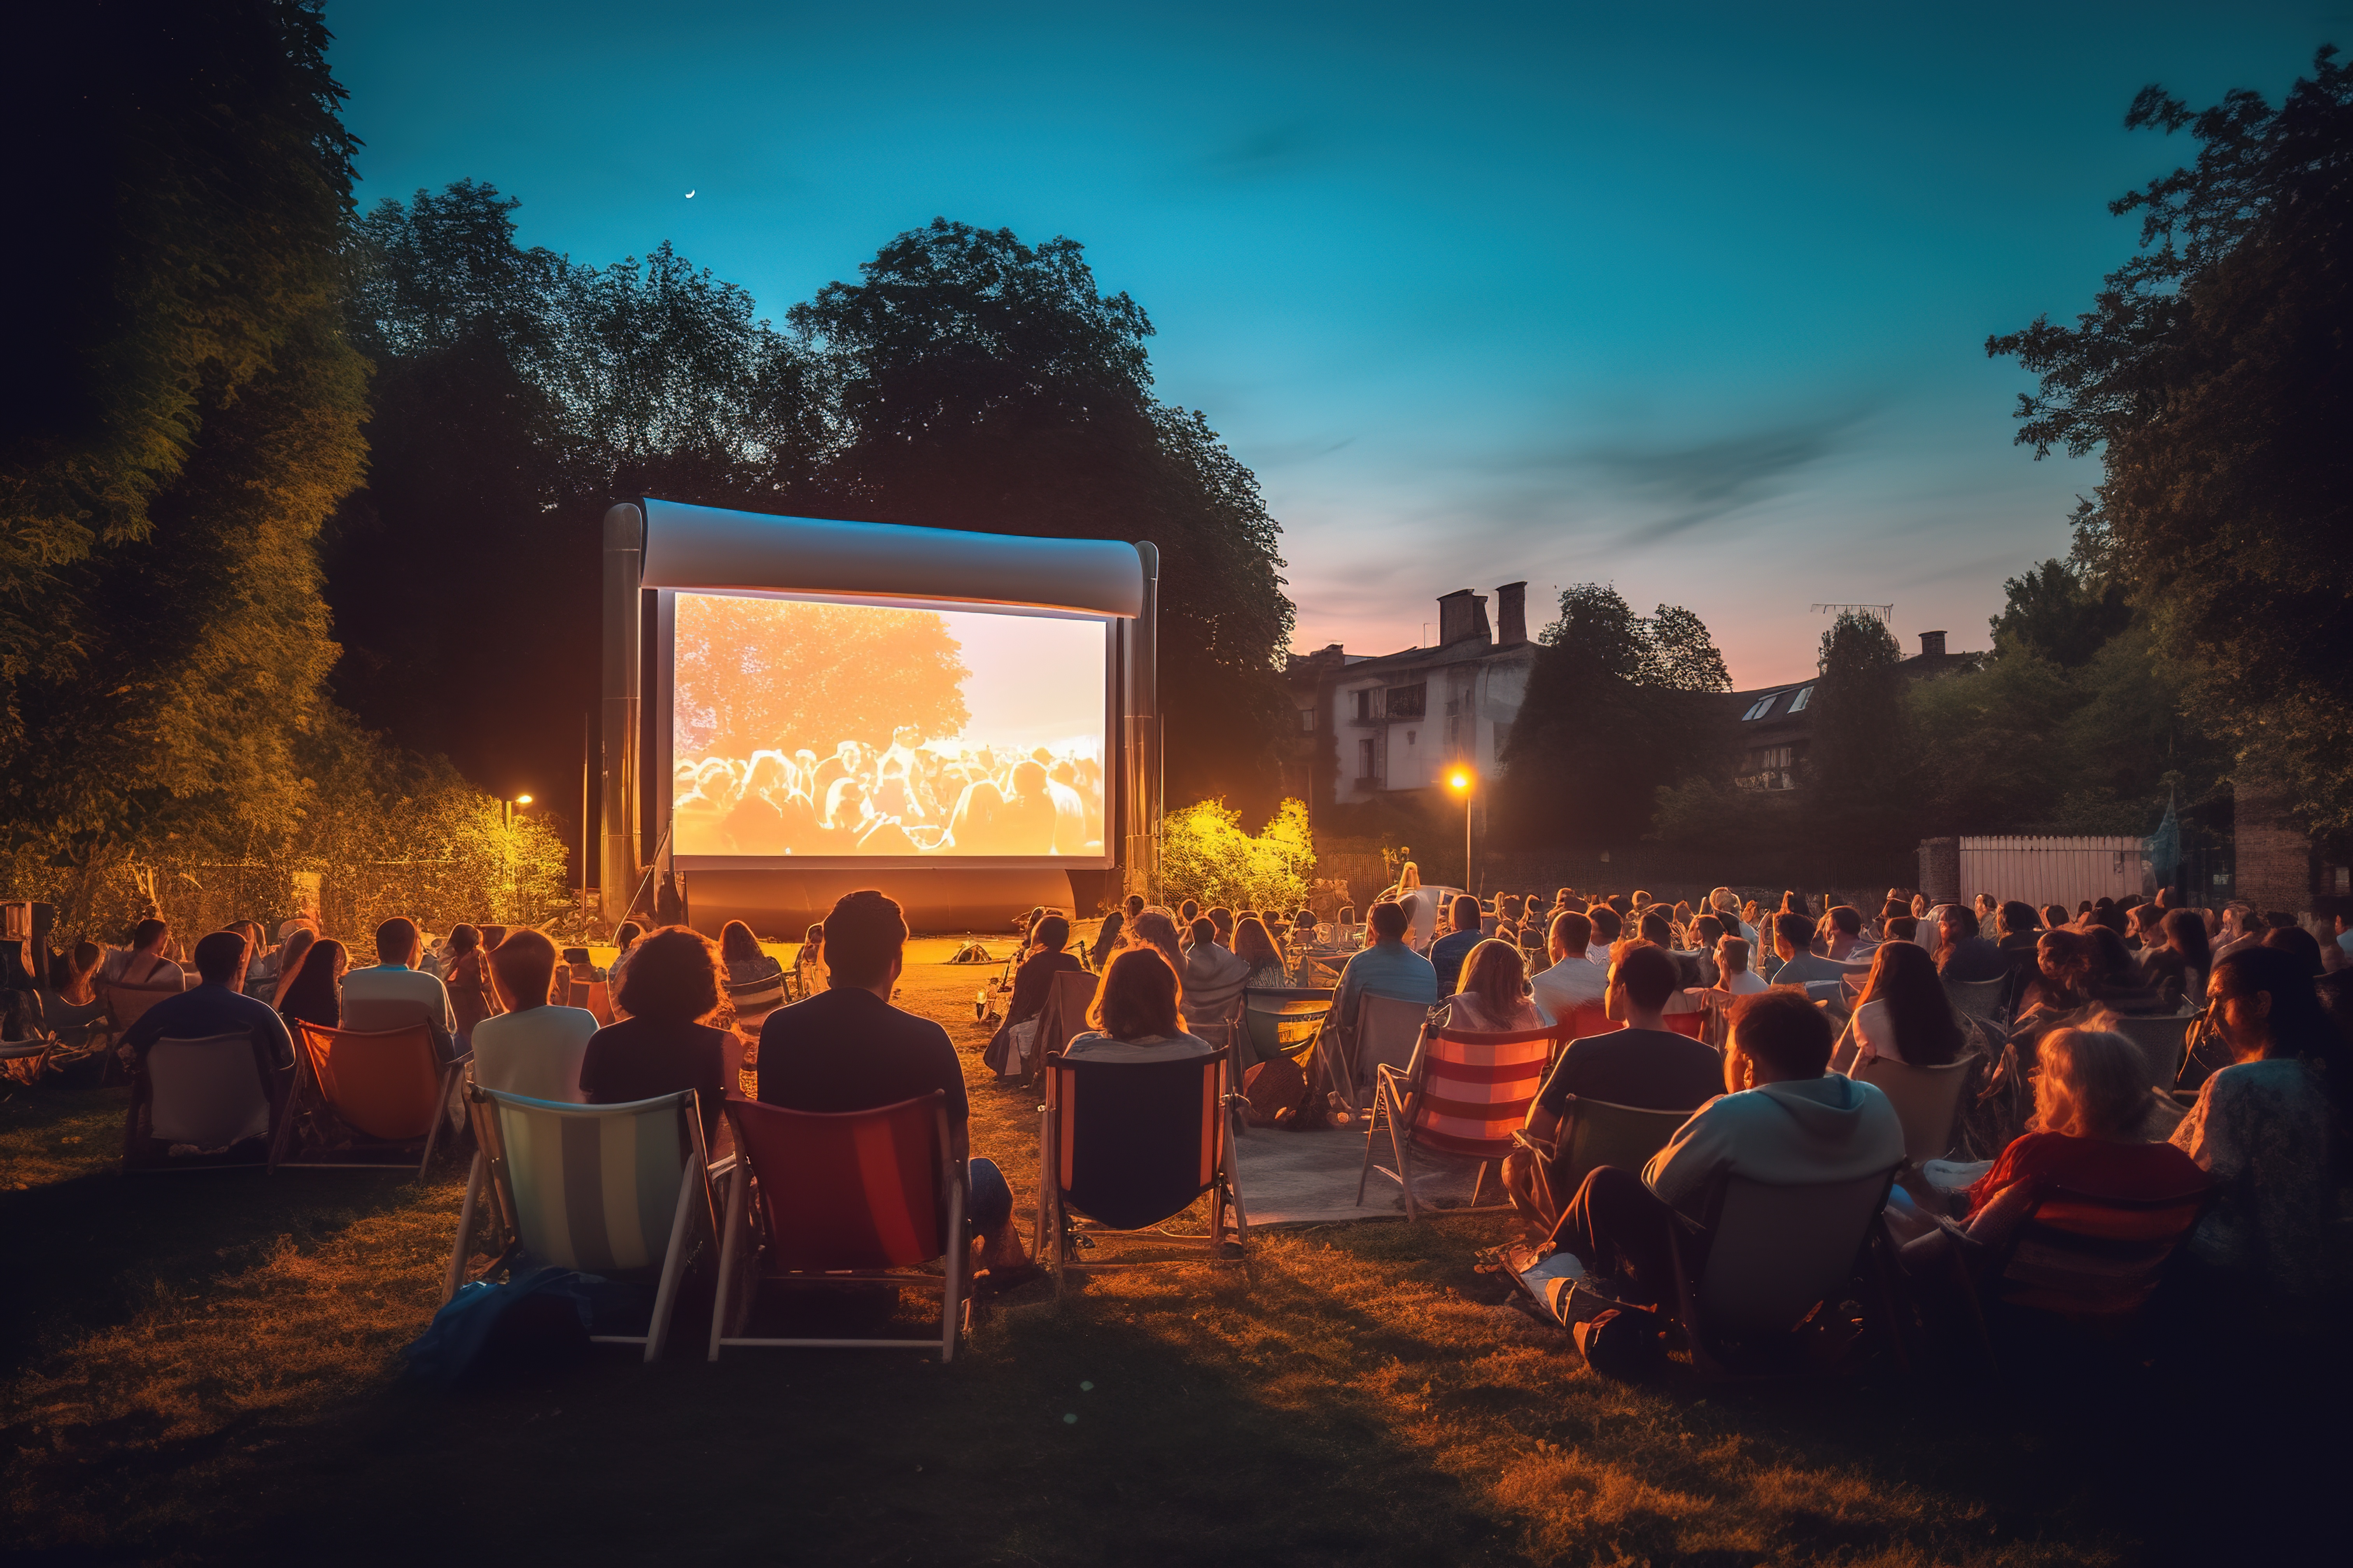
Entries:
{"label": "thin rectangular border around the lit picture of the movie screen", "polygon": [[673,769],[678,762],[678,729],[673,696],[678,689],[678,595],[699,592],[722,599],[788,599],[795,604],[859,604],[871,609],[932,609],[965,611],[981,616],[1035,616],[1045,621],[1092,621],[1104,635],[1104,853],[1099,856],[685,856],[675,846],[668,863],[680,872],[899,872],[899,870],[1111,870],[1118,863],[1115,846],[1125,835],[1125,780],[1127,726],[1120,715],[1120,616],[1078,609],[1049,609],[1038,604],[1000,604],[972,599],[911,599],[871,592],[781,592],[760,588],[647,588],[654,595],[654,658],[649,693],[649,738],[659,741],[659,752],[647,757],[642,769],[645,790],[654,797],[661,823],[661,842],[671,844],[673,818]]}

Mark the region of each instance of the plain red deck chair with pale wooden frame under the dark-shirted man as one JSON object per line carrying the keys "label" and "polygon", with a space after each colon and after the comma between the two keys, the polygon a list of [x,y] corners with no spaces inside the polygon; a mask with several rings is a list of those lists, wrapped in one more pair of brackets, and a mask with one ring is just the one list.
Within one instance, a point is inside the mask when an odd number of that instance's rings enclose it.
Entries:
{"label": "plain red deck chair with pale wooden frame under the dark-shirted man", "polygon": [[[965,1316],[965,1182],[948,1154],[948,1095],[859,1112],[805,1112],[727,1100],[739,1159],[720,1229],[720,1298],[711,1359],[736,1347],[932,1349],[955,1359]],[[760,1187],[758,1215],[751,1190]],[[894,1274],[944,1260],[941,1274]],[[762,1284],[887,1284],[939,1291],[939,1333],[925,1340],[746,1338]]]}

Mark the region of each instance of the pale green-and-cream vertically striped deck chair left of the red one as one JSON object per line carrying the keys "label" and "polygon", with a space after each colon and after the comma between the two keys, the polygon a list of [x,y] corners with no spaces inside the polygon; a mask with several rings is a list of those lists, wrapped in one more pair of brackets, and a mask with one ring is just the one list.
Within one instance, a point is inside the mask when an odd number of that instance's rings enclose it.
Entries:
{"label": "pale green-and-cream vertically striped deck chair left of the red one", "polygon": [[442,1302],[466,1281],[473,1220],[489,1197],[489,1279],[539,1265],[628,1276],[659,1265],[645,1333],[593,1333],[598,1345],[642,1345],[661,1359],[678,1309],[678,1281],[696,1234],[713,1229],[704,1117],[692,1088],[628,1105],[558,1105],[499,1088],[466,1086],[475,1128],[466,1206],[442,1276]]}

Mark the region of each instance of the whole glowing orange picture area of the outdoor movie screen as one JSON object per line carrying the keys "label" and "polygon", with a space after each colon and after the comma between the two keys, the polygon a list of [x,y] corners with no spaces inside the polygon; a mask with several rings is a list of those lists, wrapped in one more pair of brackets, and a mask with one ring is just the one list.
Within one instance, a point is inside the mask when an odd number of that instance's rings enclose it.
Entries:
{"label": "whole glowing orange picture area of the outdoor movie screen", "polygon": [[689,858],[1104,860],[1099,616],[675,595]]}

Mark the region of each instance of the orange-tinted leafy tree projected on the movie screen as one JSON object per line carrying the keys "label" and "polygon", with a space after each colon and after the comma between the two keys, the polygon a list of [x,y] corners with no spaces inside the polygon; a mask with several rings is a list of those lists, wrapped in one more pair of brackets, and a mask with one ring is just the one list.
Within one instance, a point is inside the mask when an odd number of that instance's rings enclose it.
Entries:
{"label": "orange-tinted leafy tree projected on the movie screen", "polygon": [[967,675],[932,611],[678,595],[680,752],[882,748],[901,729],[953,736],[969,717]]}

